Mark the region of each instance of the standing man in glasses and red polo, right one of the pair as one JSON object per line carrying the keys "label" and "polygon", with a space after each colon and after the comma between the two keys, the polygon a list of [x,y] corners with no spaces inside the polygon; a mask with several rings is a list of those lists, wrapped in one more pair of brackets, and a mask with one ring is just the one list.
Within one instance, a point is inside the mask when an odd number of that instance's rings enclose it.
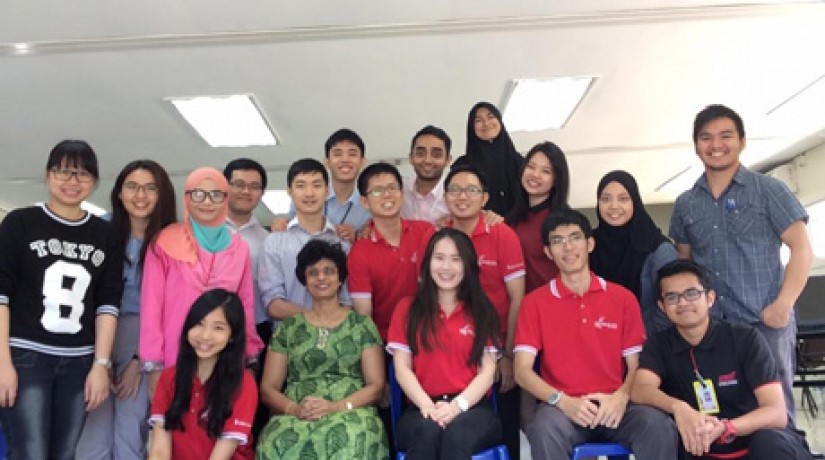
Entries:
{"label": "standing man in glasses and red polo, right one of the pair", "polygon": [[447,225],[461,230],[478,253],[479,277],[484,293],[496,307],[505,337],[499,361],[501,375],[499,416],[510,458],[519,458],[521,392],[513,379],[513,336],[524,297],[524,255],[518,235],[506,224],[488,225],[482,209],[489,199],[484,175],[474,166],[461,165],[444,179]]}

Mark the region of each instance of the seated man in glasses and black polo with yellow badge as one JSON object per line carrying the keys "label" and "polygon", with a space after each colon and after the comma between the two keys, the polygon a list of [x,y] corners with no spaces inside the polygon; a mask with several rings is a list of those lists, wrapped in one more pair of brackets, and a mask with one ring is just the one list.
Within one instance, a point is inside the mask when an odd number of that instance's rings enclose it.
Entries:
{"label": "seated man in glasses and black polo with yellow badge", "polygon": [[693,458],[812,458],[788,417],[764,337],[711,319],[717,296],[697,263],[672,261],[658,277],[659,308],[674,327],[645,343],[633,401],[672,414]]}

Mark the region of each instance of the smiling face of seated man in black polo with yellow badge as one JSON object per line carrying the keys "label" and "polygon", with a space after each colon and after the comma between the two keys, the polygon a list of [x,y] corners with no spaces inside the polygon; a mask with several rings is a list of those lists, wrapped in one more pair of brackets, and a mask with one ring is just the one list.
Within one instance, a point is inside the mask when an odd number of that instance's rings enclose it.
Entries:
{"label": "smiling face of seated man in black polo with yellow badge", "polygon": [[[678,273],[661,281],[662,298],[670,294],[684,294],[689,289],[704,291],[705,288],[693,273]],[[659,299],[659,308],[665,312],[668,319],[679,329],[690,329],[707,325],[710,321],[709,311],[716,300],[716,293],[713,290],[703,292],[696,300],[687,300],[684,295],[679,295],[676,303],[669,303]]]}

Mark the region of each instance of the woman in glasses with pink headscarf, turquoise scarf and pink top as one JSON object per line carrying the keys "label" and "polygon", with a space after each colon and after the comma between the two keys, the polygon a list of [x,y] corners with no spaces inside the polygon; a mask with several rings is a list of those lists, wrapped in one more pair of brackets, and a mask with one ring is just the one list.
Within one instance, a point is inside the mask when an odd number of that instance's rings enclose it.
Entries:
{"label": "woman in glasses with pink headscarf, turquoise scarf and pink top", "polygon": [[217,169],[186,178],[183,221],[166,227],[146,252],[140,315],[140,359],[152,394],[161,370],[173,366],[183,321],[204,292],[237,292],[246,313],[246,356],[263,347],[255,332],[249,248],[226,227],[229,184]]}

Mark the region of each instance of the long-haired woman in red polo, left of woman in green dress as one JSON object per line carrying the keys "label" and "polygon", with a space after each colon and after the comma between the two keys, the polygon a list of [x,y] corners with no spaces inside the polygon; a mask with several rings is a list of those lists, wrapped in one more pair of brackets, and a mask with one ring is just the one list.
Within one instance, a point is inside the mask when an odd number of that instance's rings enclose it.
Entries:
{"label": "long-haired woman in red polo, left of woman in green dress", "polygon": [[178,359],[152,401],[149,460],[252,460],[258,387],[244,371],[244,308],[224,289],[203,293],[183,323]]}

